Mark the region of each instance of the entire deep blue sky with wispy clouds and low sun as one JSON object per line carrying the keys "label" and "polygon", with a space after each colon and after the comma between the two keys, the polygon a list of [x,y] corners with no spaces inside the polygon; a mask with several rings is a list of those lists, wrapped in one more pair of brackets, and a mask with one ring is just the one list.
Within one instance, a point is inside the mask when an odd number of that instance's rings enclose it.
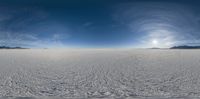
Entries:
{"label": "entire deep blue sky with wispy clouds and low sun", "polygon": [[200,45],[198,0],[0,0],[0,46]]}

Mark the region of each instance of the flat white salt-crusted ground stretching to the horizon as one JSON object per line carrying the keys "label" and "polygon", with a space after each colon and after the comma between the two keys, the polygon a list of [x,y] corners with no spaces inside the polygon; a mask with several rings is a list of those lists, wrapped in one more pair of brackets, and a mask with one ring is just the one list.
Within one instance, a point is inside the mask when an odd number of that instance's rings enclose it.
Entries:
{"label": "flat white salt-crusted ground stretching to the horizon", "polygon": [[200,50],[0,50],[0,97],[10,96],[199,97]]}

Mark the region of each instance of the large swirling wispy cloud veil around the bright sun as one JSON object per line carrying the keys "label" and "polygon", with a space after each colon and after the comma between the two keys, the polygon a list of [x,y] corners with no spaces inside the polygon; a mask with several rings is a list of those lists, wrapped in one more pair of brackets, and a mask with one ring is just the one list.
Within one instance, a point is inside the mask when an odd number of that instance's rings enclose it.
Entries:
{"label": "large swirling wispy cloud veil around the bright sun", "polygon": [[[200,39],[199,12],[176,3],[137,2],[117,5],[113,18],[138,35],[141,45],[151,46],[152,39],[161,47],[192,43]],[[200,42],[199,42],[200,44]]]}

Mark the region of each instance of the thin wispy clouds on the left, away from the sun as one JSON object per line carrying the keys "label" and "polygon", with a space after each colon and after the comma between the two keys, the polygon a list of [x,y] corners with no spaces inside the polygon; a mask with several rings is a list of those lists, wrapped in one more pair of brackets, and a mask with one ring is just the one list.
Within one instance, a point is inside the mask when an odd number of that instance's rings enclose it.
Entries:
{"label": "thin wispy clouds on the left, away from the sun", "polygon": [[0,13],[0,46],[63,47],[62,41],[70,37],[55,24],[46,28],[48,14],[37,7],[0,7]]}

